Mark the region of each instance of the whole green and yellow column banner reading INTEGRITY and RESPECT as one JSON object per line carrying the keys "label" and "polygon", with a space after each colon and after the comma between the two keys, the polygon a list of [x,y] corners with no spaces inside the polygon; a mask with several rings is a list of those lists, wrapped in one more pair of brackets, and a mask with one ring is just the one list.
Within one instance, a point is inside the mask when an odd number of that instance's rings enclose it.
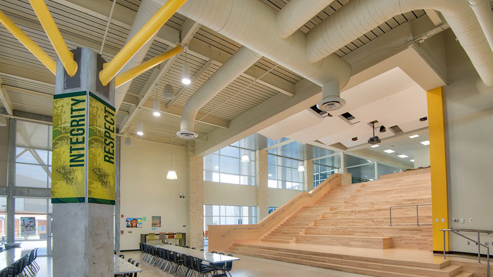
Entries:
{"label": "whole green and yellow column banner reading INTEGRITY and RESPECT", "polygon": [[[115,108],[81,91],[53,97],[52,203],[115,205]],[[87,175],[86,175],[87,172]]]}

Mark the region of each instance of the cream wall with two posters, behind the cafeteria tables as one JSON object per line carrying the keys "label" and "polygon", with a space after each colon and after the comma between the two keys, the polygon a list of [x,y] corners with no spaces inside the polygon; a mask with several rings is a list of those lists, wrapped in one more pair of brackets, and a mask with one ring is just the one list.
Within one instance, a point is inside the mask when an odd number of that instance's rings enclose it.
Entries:
{"label": "cream wall with two posters, behind the cafeteria tables", "polygon": [[[126,217],[147,217],[142,228],[122,228],[120,249],[138,249],[141,233],[186,232],[188,225],[187,155],[181,146],[132,138],[134,145],[121,144],[121,214]],[[166,180],[173,147],[173,167],[178,180]],[[185,194],[180,198],[179,193]],[[151,216],[161,216],[161,230],[151,230]],[[129,233],[131,231],[132,233]]]}

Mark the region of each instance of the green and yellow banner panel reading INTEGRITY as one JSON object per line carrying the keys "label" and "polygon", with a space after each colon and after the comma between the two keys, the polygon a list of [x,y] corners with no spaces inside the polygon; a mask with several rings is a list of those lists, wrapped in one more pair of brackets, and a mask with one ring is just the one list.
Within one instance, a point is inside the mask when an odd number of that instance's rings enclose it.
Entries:
{"label": "green and yellow banner panel reading INTEGRITY", "polygon": [[53,96],[51,203],[84,203],[86,92]]}

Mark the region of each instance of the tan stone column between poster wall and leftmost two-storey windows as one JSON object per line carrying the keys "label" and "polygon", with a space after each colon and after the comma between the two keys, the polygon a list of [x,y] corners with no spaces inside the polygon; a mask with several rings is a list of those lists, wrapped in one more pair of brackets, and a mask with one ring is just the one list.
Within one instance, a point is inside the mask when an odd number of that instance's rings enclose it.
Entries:
{"label": "tan stone column between poster wall and leftmost two-storey windows", "polygon": [[187,152],[189,156],[188,176],[188,233],[187,245],[197,249],[203,246],[204,231],[204,158],[194,156],[193,151]]}

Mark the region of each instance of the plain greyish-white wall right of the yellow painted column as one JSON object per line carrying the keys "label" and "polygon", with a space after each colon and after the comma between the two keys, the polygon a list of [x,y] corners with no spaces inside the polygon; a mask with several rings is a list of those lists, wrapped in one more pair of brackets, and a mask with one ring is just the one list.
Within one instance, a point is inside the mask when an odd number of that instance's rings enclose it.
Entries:
{"label": "plain greyish-white wall right of the yellow painted column", "polygon": [[[465,223],[450,227],[493,230],[493,96],[478,92],[478,75],[454,38],[450,30],[445,33],[447,81],[451,82],[443,88],[449,218],[463,218]],[[475,233],[470,236],[477,238]],[[481,238],[483,243],[493,242],[493,235]],[[452,234],[451,250],[474,253],[477,246],[468,246],[465,239]]]}

